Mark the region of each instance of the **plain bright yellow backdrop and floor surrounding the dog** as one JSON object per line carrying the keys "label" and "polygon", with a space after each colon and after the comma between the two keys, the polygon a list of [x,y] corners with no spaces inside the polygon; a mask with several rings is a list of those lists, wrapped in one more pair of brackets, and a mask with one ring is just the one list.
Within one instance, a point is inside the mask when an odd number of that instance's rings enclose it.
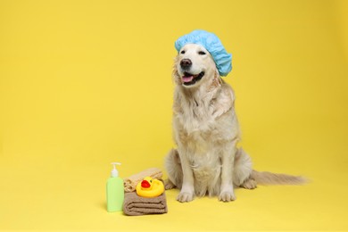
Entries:
{"label": "plain bright yellow backdrop and floor surrounding the dog", "polygon": [[[347,1],[0,1],[0,230],[347,230]],[[120,176],[173,146],[174,41],[216,33],[233,54],[244,149],[306,186],[105,210]]]}

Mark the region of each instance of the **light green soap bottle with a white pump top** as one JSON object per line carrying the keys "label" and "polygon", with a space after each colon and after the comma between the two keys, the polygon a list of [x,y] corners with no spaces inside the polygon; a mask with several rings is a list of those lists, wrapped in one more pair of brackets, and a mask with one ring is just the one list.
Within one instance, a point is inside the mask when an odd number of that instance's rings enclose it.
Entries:
{"label": "light green soap bottle with a white pump top", "polygon": [[107,211],[122,211],[124,201],[123,179],[119,177],[116,165],[120,162],[112,162],[112,175],[106,182],[106,208]]}

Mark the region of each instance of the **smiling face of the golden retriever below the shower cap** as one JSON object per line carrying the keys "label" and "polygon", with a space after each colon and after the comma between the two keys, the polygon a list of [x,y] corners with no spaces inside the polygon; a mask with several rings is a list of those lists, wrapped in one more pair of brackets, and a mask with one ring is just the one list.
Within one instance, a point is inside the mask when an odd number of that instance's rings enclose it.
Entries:
{"label": "smiling face of the golden retriever below the shower cap", "polygon": [[211,54],[200,45],[187,44],[178,52],[174,78],[183,87],[197,87],[218,74]]}

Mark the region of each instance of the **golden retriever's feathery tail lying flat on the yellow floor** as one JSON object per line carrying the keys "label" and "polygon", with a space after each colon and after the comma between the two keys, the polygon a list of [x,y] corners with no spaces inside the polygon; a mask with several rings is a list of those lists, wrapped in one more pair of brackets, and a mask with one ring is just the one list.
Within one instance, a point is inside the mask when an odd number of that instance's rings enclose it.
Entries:
{"label": "golden retriever's feathery tail lying flat on the yellow floor", "polygon": [[271,173],[268,171],[253,170],[251,178],[253,178],[257,184],[260,185],[303,185],[307,181],[306,178],[301,176],[292,176],[280,173]]}

